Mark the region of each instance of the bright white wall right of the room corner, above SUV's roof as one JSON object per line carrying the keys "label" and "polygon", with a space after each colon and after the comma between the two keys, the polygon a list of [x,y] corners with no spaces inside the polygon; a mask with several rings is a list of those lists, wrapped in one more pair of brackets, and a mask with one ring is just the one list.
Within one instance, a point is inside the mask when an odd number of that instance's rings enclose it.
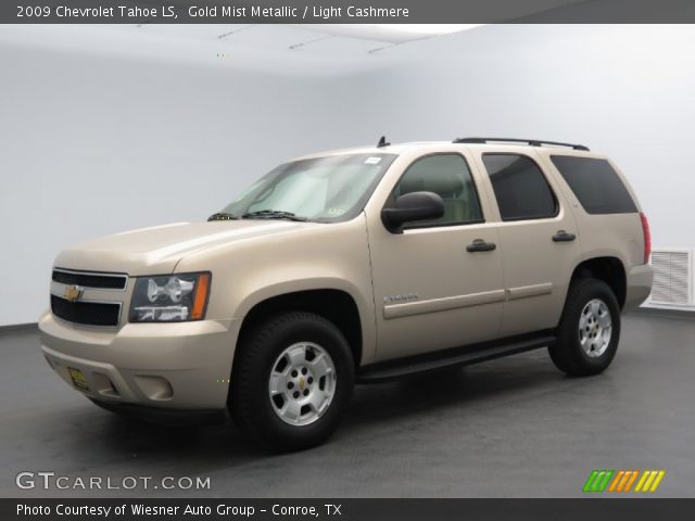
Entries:
{"label": "bright white wall right of the room corner, above SUV's roof", "polygon": [[629,177],[653,244],[695,247],[695,26],[497,25],[420,47],[371,78],[388,99],[369,128],[584,143]]}

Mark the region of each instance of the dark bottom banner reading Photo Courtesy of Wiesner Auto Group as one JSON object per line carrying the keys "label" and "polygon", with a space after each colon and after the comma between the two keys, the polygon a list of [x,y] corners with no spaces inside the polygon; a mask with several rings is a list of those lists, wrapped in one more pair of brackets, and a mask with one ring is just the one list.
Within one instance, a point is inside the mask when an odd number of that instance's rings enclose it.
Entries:
{"label": "dark bottom banner reading Photo Courtesy of Wiesner Auto Group", "polygon": [[0,499],[0,519],[692,520],[695,499]]}

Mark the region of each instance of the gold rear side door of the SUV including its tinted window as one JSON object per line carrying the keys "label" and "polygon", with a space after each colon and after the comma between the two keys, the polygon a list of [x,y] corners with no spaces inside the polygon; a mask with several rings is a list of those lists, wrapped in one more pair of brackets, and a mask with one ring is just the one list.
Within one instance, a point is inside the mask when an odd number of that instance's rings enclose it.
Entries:
{"label": "gold rear side door of the SUV including its tinted window", "polygon": [[533,150],[478,156],[500,213],[503,336],[557,326],[581,254],[572,212],[538,160]]}

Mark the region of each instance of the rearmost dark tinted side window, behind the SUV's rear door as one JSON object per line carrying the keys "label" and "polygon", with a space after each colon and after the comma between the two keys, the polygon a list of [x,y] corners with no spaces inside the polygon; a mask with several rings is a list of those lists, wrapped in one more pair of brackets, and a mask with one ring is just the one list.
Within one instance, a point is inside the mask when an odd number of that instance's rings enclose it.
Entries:
{"label": "rearmost dark tinted side window, behind the SUV's rear door", "polygon": [[553,155],[553,164],[587,214],[637,212],[630,192],[606,160]]}

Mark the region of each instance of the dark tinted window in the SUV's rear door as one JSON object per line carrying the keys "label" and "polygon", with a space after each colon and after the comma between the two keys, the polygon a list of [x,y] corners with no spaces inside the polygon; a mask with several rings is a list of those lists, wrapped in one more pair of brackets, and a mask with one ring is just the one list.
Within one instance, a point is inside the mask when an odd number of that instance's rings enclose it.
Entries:
{"label": "dark tinted window in the SUV's rear door", "polygon": [[557,201],[543,173],[530,157],[483,154],[502,220],[542,219],[557,215]]}

